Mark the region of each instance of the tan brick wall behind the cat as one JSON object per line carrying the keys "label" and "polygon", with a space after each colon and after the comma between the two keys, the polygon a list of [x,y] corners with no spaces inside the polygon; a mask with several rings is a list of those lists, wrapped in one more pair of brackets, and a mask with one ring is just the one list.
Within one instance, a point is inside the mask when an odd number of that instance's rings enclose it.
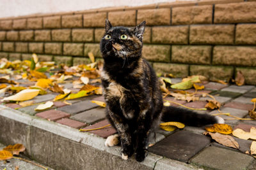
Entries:
{"label": "tan brick wall behind the cat", "polygon": [[256,1],[204,0],[104,8],[0,18],[0,57],[57,63],[88,63],[88,52],[102,56],[104,22],[135,26],[147,22],[143,57],[161,73],[211,80],[235,78],[241,71],[256,85]]}

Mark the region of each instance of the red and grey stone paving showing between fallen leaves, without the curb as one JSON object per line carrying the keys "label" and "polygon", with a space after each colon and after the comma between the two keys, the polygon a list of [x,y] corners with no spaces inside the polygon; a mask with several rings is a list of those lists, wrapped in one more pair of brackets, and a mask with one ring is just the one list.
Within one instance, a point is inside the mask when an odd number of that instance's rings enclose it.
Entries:
{"label": "red and grey stone paving showing between fallen leaves, without the curb", "polygon": [[[172,78],[172,81],[180,81],[179,78]],[[24,81],[24,80],[22,80]],[[66,83],[65,87],[72,87]],[[207,94],[211,94],[219,101],[222,106],[222,113],[230,113],[239,118],[250,118],[248,110],[253,108],[251,99],[256,97],[256,87],[253,85],[223,85],[221,83],[204,82],[205,89],[201,90]],[[190,89],[189,92],[195,90]],[[50,101],[58,95],[54,92],[48,92],[44,96],[37,96],[33,99],[35,103]],[[166,97],[170,101],[175,101],[173,97]],[[177,101],[191,108],[204,108],[206,100],[209,97],[200,96],[200,101],[185,102]],[[58,124],[67,125],[75,129],[92,129],[108,125],[104,115],[104,108],[97,104],[91,103],[91,100],[104,101],[102,96],[88,96],[79,99],[67,101],[72,103],[67,105],[61,101],[55,101],[54,106],[45,111],[35,111],[37,104],[22,108],[16,103],[2,103],[5,106],[19,110],[28,115],[35,115],[57,122]],[[177,106],[176,104],[172,104]],[[219,113],[218,110],[199,111],[200,113],[214,114]],[[221,115],[226,119],[226,123],[231,125],[233,129],[237,127],[250,131],[250,127],[256,127],[256,120],[227,120],[230,117]],[[228,148],[216,143],[211,138],[204,136],[204,127],[185,127],[182,130],[167,132],[157,129],[155,134],[151,135],[150,144],[154,144],[149,148],[149,152],[164,156],[169,159],[178,160],[187,164],[194,164],[198,167],[210,169],[255,169],[255,159],[246,155],[244,152],[250,152],[251,140],[237,139],[239,150]],[[83,133],[83,132],[81,132]],[[102,138],[107,138],[116,131],[113,127],[90,131]],[[242,152],[241,152],[242,151]],[[3,169],[3,168],[2,168]]]}

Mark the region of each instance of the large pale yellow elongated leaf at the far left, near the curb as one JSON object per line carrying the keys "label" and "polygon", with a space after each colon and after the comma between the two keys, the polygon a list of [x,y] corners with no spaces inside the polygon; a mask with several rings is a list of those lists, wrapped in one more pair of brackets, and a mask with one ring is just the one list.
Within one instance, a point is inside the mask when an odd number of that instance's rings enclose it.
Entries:
{"label": "large pale yellow elongated leaf at the far left, near the curb", "polygon": [[25,89],[13,96],[4,97],[2,101],[28,101],[29,99],[36,97],[39,94],[39,91],[40,90],[36,89]]}

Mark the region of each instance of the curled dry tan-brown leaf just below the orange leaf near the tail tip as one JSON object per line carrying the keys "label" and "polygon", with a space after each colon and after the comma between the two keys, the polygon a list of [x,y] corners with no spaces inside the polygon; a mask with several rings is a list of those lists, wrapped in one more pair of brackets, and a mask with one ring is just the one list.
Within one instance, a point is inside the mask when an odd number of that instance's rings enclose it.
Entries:
{"label": "curled dry tan-brown leaf just below the orange leaf near the tail tip", "polygon": [[212,133],[212,132],[204,132],[204,135],[210,135],[212,139],[214,139],[216,142],[220,143],[221,145],[225,145],[231,148],[239,148],[239,144],[237,141],[232,138],[232,136],[225,135],[225,134],[219,134],[218,132]]}

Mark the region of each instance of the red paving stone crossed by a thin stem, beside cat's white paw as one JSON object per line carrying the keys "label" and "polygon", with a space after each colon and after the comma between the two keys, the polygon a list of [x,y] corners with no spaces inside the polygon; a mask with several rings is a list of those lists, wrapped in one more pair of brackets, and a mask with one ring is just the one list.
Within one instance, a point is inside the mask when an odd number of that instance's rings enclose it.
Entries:
{"label": "red paving stone crossed by a thin stem, beside cat's white paw", "polygon": [[[102,127],[102,126],[105,126],[108,124],[109,124],[108,120],[105,119],[105,120],[98,122],[97,124],[90,125],[88,127],[84,127],[83,129],[95,129],[95,128],[99,128],[99,127]],[[104,129],[98,129],[98,130],[89,131],[89,132],[93,133],[93,134],[97,134],[97,135],[101,136],[102,138],[107,138],[111,134],[115,134],[116,129],[114,127],[110,126],[110,127],[104,128]]]}

